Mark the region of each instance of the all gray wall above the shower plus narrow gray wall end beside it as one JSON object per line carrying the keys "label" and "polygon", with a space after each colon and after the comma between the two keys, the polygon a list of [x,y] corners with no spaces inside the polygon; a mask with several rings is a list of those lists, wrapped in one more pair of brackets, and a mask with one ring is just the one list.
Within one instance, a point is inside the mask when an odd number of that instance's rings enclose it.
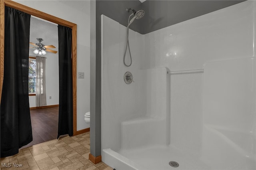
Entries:
{"label": "all gray wall above the shower plus narrow gray wall end beside it", "polygon": [[[97,0],[91,1],[90,13],[90,153],[101,155],[101,18],[109,18],[127,26],[126,8],[143,9],[145,16],[135,20],[130,29],[147,34],[179,22],[195,18],[243,2],[241,0]],[[122,64],[122,63],[121,63]]]}

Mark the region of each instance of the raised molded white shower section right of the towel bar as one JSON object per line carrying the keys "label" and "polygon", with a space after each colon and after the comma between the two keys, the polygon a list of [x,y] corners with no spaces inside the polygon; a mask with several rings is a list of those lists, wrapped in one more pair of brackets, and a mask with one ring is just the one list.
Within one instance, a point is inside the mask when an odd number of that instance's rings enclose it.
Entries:
{"label": "raised molded white shower section right of the towel bar", "polygon": [[202,159],[216,169],[256,168],[255,71],[255,58],[204,67]]}

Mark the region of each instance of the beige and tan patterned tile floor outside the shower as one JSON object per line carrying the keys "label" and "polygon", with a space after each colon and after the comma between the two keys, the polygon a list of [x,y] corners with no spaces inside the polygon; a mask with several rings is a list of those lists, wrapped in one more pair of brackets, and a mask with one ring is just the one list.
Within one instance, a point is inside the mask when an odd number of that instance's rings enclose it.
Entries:
{"label": "beige and tan patterned tile floor outside the shower", "polygon": [[[1,170],[113,170],[100,162],[93,164],[89,158],[90,132],[50,140],[19,151],[14,156],[1,158]],[[10,163],[11,167],[2,165]],[[15,167],[13,164],[22,164]]]}

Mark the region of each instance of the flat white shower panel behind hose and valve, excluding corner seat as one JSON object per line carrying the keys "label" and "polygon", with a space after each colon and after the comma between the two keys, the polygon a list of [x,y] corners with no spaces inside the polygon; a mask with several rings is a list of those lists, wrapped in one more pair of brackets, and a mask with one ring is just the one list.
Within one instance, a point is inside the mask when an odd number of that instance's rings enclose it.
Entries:
{"label": "flat white shower panel behind hose and valve, excluding corner seat", "polygon": [[[121,147],[121,123],[146,115],[146,77],[140,71],[143,55],[142,35],[130,30],[132,65],[123,64],[126,27],[102,15],[102,148],[115,151]],[[129,63],[128,50],[126,53]],[[124,82],[130,71],[134,83]]]}

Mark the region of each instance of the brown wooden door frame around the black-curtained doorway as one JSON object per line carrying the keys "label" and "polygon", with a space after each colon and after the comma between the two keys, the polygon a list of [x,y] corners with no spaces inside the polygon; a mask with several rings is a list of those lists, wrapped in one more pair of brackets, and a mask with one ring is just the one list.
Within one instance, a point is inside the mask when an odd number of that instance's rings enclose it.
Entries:
{"label": "brown wooden door frame around the black-curtained doorway", "polygon": [[4,79],[4,9],[5,6],[20,10],[32,16],[48,20],[72,28],[72,85],[73,85],[73,135],[77,135],[76,128],[76,24],[62,20],[50,14],[35,10],[11,0],[0,0],[0,99]]}

